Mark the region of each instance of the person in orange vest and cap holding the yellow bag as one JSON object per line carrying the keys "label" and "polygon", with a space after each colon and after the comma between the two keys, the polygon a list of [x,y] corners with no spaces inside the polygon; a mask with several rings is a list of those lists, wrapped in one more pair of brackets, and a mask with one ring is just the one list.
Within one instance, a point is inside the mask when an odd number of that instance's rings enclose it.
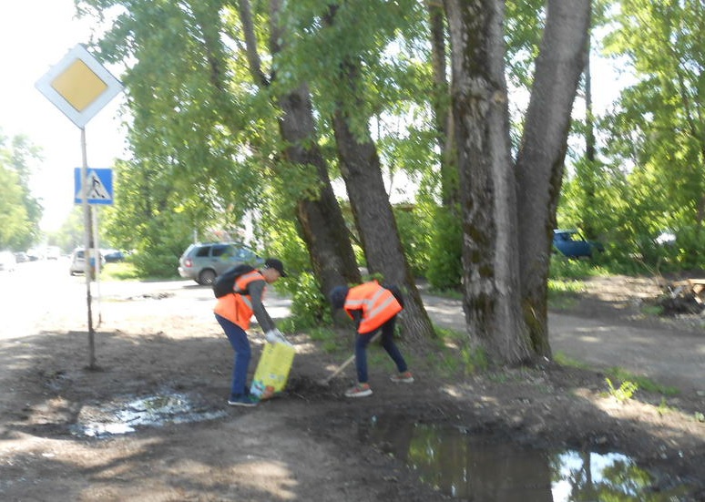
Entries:
{"label": "person in orange vest and cap holding the yellow bag", "polygon": [[213,309],[216,320],[228,337],[232,350],[235,351],[229,405],[257,405],[257,400],[250,397],[250,386],[247,384],[247,370],[251,358],[247,330],[250,329],[252,315],[260,323],[267,342],[289,343],[276,328],[262,304],[265,286],[277,282],[280,277],[286,277],[284,265],[281,261],[270,258],[264,262],[261,270],[252,270],[240,275],[233,284],[233,292],[221,296]]}

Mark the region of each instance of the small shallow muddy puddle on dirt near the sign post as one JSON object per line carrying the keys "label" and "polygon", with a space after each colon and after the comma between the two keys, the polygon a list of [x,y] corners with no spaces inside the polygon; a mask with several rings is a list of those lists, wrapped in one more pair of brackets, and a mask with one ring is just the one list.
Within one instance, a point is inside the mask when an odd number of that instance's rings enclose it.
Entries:
{"label": "small shallow muddy puddle on dirt near the sign post", "polygon": [[186,424],[227,415],[194,404],[189,395],[165,392],[143,397],[126,396],[109,403],[86,405],[71,426],[74,435],[104,437],[135,432],[139,427]]}

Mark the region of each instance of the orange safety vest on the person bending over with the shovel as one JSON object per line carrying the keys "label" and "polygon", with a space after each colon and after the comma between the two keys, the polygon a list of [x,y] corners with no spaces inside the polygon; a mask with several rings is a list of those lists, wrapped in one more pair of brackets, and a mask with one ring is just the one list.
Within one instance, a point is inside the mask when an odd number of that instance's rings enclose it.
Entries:
{"label": "orange safety vest on the person bending over with the shovel", "polygon": [[363,311],[363,320],[357,328],[357,333],[373,332],[403,309],[392,292],[384,289],[376,281],[365,282],[350,288],[342,308],[351,318],[353,318],[352,311]]}

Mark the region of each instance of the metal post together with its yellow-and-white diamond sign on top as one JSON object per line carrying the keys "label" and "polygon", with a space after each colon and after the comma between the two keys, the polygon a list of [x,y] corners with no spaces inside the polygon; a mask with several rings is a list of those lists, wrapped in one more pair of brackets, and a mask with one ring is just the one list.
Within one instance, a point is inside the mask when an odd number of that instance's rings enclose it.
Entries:
{"label": "metal post together with its yellow-and-white diamond sign on top", "polygon": [[[81,205],[84,224],[84,273],[86,276],[86,302],[88,311],[88,368],[96,369],[96,343],[91,311],[91,214],[88,200],[88,161],[86,152],[86,124],[98,111],[122,91],[122,84],[113,77],[85,46],[78,44],[68,51],[61,61],[49,68],[36,82],[36,88],[81,129]],[[97,232],[94,244],[97,247]],[[100,260],[95,251],[96,263]],[[99,265],[98,265],[99,266]]]}

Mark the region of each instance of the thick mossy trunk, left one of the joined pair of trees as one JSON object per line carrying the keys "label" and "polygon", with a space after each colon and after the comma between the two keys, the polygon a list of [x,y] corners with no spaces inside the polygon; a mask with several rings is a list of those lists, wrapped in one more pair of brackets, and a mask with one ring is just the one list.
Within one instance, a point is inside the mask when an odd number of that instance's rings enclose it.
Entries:
{"label": "thick mossy trunk, left one of the joined pair of trees", "polygon": [[504,74],[504,2],[445,0],[471,340],[496,363],[530,358],[520,308],[516,184]]}

